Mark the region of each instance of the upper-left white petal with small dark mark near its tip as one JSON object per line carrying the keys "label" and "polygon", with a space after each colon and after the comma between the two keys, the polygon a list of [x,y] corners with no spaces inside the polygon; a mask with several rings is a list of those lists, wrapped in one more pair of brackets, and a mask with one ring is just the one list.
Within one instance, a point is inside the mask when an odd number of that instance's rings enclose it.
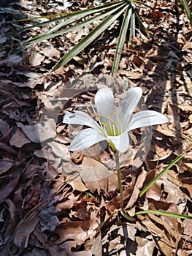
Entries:
{"label": "upper-left white petal with small dark mark near its tip", "polygon": [[85,113],[83,111],[74,111],[74,113],[67,112],[64,116],[63,122],[65,124],[81,124],[81,125],[87,125],[88,127],[91,127],[93,129],[99,129],[101,130],[101,127],[99,127],[99,124],[96,123],[96,121],[91,118],[91,116],[88,115],[88,113]]}

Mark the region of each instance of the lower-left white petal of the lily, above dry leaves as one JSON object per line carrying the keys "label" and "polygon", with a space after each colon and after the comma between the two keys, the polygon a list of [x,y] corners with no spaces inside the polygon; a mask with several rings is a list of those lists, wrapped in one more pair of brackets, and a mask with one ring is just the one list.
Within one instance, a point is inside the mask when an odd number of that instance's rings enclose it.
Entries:
{"label": "lower-left white petal of the lily, above dry leaves", "polygon": [[92,128],[82,129],[82,131],[77,134],[74,140],[72,140],[72,144],[69,147],[69,150],[80,151],[82,149],[93,146],[93,144],[102,140],[106,140],[106,137],[96,132],[96,130]]}

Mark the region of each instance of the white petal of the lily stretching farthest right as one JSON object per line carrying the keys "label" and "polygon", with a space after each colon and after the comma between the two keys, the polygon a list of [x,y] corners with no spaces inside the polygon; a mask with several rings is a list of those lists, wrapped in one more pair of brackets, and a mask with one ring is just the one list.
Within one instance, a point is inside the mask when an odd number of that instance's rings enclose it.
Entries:
{"label": "white petal of the lily stretching farthest right", "polygon": [[132,116],[131,121],[127,127],[127,131],[139,127],[148,127],[156,124],[164,124],[169,120],[161,113],[153,110],[144,110]]}

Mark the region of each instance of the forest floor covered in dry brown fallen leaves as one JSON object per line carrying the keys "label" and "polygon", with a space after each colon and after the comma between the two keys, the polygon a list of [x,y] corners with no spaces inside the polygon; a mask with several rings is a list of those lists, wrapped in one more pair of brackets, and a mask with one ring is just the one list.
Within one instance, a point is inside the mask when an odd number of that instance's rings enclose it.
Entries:
{"label": "forest floor covered in dry brown fallen leaves", "polygon": [[[153,213],[132,221],[123,217],[111,152],[97,157],[69,152],[77,130],[62,123],[68,110],[89,111],[101,86],[110,86],[117,99],[128,87],[141,87],[143,105],[164,113],[169,123],[147,133],[147,142],[142,136],[147,130],[132,132],[134,143],[120,156],[126,214],[151,209],[192,216],[192,31],[182,4],[151,1],[155,11],[140,10],[153,37],[125,44],[115,78],[110,72],[118,23],[55,72],[50,70],[56,61],[91,27],[20,53],[26,39],[47,27],[7,36],[35,22],[15,20],[94,3],[0,3],[0,255],[192,255],[191,219]],[[180,162],[139,197],[180,154]],[[97,170],[101,176],[88,180]],[[107,172],[112,174],[104,176]]]}

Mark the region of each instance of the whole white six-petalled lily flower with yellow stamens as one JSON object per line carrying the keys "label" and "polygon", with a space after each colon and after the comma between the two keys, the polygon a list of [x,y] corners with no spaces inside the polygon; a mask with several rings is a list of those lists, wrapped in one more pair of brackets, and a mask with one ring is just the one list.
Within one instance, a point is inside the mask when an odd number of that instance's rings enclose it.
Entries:
{"label": "whole white six-petalled lily flower with yellow stamens", "polygon": [[131,88],[117,107],[112,90],[104,86],[97,91],[95,97],[97,121],[83,111],[67,112],[63,120],[65,124],[81,124],[90,127],[82,129],[77,134],[69,150],[80,151],[102,140],[107,140],[113,151],[123,153],[128,149],[129,131],[139,127],[164,124],[168,121],[166,116],[153,110],[143,110],[131,116],[141,97],[141,88]]}

